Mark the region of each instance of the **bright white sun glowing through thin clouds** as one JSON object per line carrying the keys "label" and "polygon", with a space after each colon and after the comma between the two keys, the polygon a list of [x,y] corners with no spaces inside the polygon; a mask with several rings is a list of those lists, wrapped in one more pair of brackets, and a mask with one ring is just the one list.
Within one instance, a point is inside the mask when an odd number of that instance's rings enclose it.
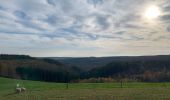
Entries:
{"label": "bright white sun glowing through thin clouds", "polygon": [[145,17],[147,19],[154,19],[159,17],[161,14],[161,11],[158,6],[150,6],[145,11]]}

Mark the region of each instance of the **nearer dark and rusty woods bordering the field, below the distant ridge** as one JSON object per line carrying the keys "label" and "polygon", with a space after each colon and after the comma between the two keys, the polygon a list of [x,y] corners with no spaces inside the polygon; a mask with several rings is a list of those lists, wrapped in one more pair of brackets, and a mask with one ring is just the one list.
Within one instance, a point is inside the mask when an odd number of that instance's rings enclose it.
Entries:
{"label": "nearer dark and rusty woods bordering the field, below the distant ridge", "polygon": [[170,82],[169,60],[112,61],[84,70],[52,59],[0,55],[0,76],[48,82],[113,82],[120,80]]}

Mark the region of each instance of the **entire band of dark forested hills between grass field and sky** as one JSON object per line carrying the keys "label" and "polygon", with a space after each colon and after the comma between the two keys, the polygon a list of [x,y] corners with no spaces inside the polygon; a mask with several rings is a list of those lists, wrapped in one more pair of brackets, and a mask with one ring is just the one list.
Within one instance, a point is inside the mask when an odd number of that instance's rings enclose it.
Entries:
{"label": "entire band of dark forested hills between grass field and sky", "polygon": [[0,55],[0,76],[50,82],[90,78],[170,82],[169,55],[57,59],[59,61],[25,55]]}

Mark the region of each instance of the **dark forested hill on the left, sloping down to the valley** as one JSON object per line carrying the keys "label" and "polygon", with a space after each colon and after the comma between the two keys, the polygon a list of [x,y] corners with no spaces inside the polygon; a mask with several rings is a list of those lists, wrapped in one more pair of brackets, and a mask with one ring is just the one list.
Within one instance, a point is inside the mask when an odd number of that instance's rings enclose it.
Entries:
{"label": "dark forested hill on the left, sloping down to the valley", "polygon": [[[81,70],[52,59],[27,55],[0,55],[0,76],[27,80],[66,82],[79,78]],[[69,74],[69,78],[68,78]]]}

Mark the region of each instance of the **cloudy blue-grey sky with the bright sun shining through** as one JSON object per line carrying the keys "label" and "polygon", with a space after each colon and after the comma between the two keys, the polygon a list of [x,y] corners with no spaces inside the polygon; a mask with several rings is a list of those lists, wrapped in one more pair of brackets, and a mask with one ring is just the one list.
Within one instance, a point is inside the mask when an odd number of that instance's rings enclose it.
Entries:
{"label": "cloudy blue-grey sky with the bright sun shining through", "polygon": [[0,53],[170,54],[170,0],[0,0]]}

